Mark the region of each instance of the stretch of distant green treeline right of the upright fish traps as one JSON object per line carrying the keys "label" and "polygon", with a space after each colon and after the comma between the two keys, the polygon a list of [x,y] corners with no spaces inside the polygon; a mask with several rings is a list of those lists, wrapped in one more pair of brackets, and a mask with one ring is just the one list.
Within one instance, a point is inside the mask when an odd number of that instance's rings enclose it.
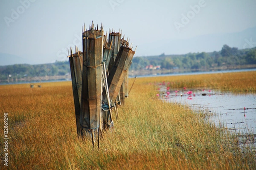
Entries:
{"label": "stretch of distant green treeline right of the upright fish traps", "polygon": [[256,48],[238,50],[223,45],[221,51],[210,53],[189,53],[183,55],[165,55],[134,57],[131,70],[144,69],[147,65],[160,65],[161,69],[211,69],[221,66],[256,64]]}

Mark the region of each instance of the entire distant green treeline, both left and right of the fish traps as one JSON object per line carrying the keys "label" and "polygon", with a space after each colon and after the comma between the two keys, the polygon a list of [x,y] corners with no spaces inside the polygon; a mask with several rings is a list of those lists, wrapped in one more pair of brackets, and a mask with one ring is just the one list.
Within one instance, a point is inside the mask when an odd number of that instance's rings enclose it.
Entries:
{"label": "entire distant green treeline, both left and right of the fish traps", "polygon": [[[210,53],[189,53],[183,55],[165,55],[150,57],[134,57],[130,70],[138,71],[146,66],[160,66],[160,69],[212,69],[221,66],[256,64],[256,48],[238,50],[236,47],[223,45],[221,51]],[[0,80],[8,78],[61,76],[70,74],[69,61],[52,64],[28,65],[15,64],[0,66]]]}

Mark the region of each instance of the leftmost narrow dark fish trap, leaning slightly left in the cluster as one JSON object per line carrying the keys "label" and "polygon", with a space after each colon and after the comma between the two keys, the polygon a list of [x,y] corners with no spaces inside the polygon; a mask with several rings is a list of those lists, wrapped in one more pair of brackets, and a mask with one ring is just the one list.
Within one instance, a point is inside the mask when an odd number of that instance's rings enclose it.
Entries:
{"label": "leftmost narrow dark fish trap, leaning slightly left in the cluster", "polygon": [[81,112],[81,88],[82,88],[82,69],[80,59],[82,58],[82,52],[76,49],[76,53],[72,54],[69,57],[70,62],[70,71],[71,71],[71,80],[73,88],[73,97],[75,103],[75,112],[76,112],[76,130],[77,135],[82,136],[82,128],[80,126],[80,112]]}

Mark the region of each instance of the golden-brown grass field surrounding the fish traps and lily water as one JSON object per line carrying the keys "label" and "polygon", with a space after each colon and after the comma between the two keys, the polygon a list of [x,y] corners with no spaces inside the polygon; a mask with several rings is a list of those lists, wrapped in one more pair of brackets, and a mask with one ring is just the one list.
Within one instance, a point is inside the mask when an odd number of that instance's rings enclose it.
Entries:
{"label": "golden-brown grass field surrounding the fish traps and lily water", "polygon": [[[131,87],[134,79],[129,79]],[[71,82],[0,85],[0,169],[3,116],[8,113],[10,170],[256,169],[256,150],[205,122],[203,113],[157,98],[154,82],[171,88],[256,93],[256,71],[137,78],[100,148],[78,139]]]}

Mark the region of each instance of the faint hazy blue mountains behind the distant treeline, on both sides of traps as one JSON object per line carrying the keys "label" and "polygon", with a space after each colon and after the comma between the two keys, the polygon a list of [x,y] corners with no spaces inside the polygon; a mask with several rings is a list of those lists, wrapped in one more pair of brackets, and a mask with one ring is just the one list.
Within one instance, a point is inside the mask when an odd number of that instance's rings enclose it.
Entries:
{"label": "faint hazy blue mountains behind the distant treeline, on both sides of traps", "polygon": [[[201,35],[184,40],[162,40],[139,45],[140,51],[149,51],[148,56],[154,54],[187,54],[189,52],[220,51],[224,44],[238,49],[256,47],[256,27],[248,28],[241,32],[229,34]],[[150,47],[150,49],[148,49]],[[175,51],[175,52],[174,52]],[[136,55],[138,56],[138,55]],[[0,65],[32,64],[26,58],[12,54],[0,53]]]}

